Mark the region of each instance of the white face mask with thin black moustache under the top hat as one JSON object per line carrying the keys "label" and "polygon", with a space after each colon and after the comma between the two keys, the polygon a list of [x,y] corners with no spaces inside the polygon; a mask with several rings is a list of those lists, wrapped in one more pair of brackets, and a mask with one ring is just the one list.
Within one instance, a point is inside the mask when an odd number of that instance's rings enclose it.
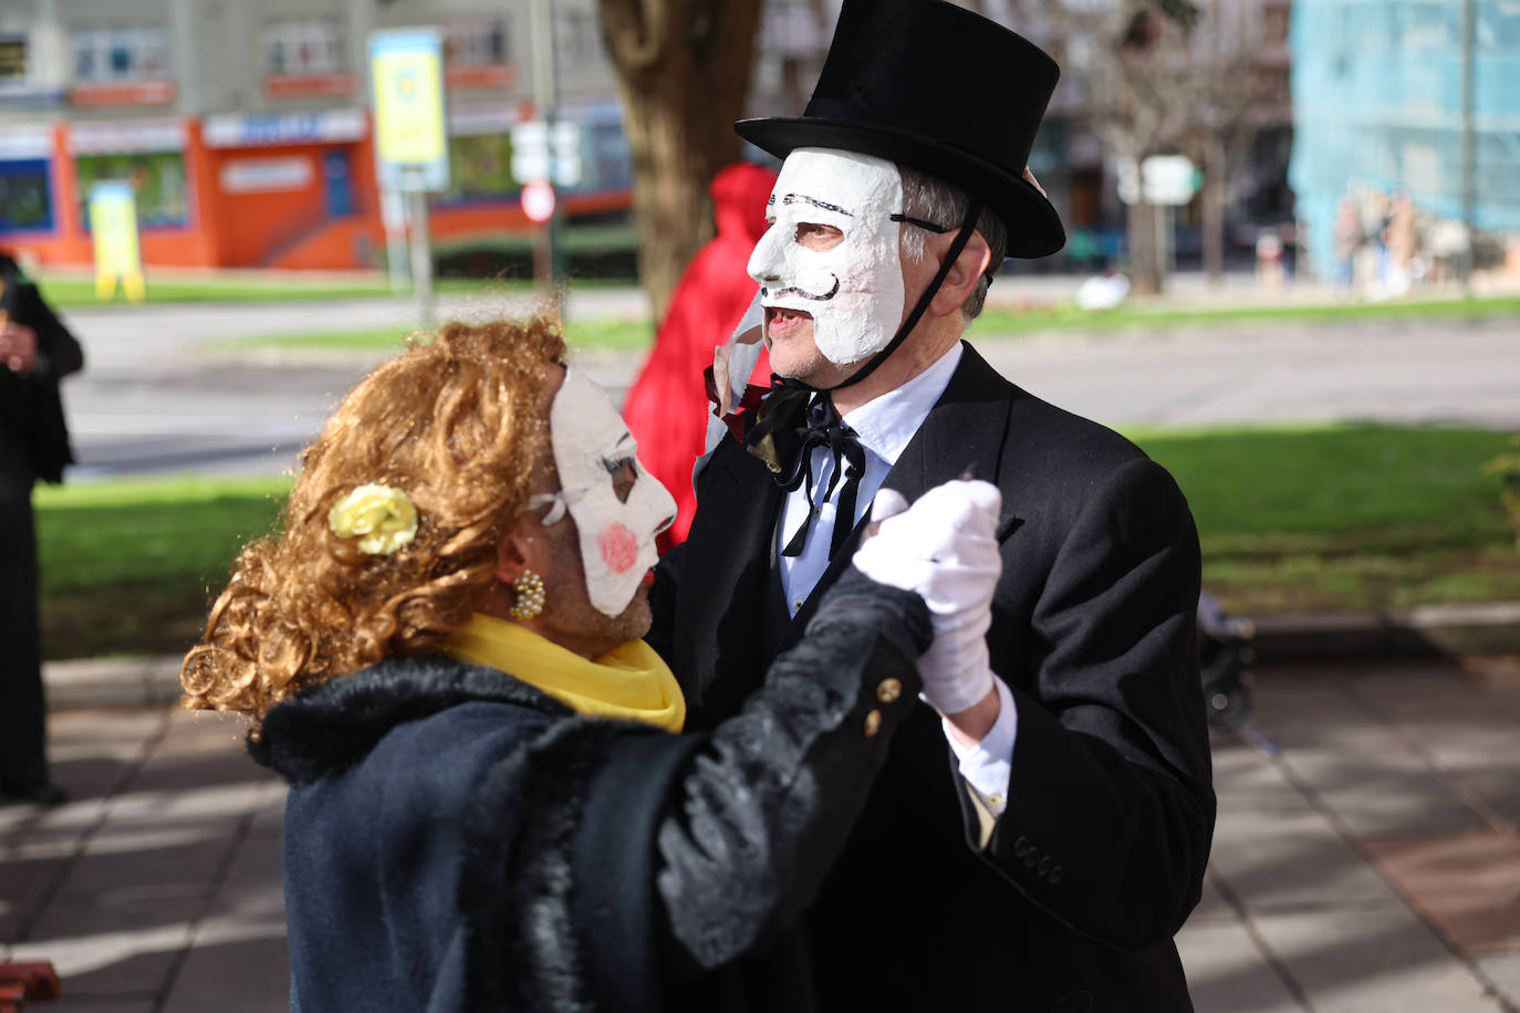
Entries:
{"label": "white face mask with thin black moustache under the top hat", "polygon": [[[766,308],[813,317],[813,342],[845,366],[886,348],[903,320],[898,225],[903,181],[892,163],[824,147],[786,156],[771,191],[772,222],[749,257]],[[809,225],[831,225],[844,238],[827,251],[798,241]]]}

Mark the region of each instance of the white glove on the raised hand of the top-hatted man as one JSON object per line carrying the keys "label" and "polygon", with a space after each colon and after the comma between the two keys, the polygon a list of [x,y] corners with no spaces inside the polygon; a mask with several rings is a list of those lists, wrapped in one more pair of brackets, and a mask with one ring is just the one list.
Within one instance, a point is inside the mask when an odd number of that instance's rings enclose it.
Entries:
{"label": "white glove on the raised hand of the top-hatted man", "polygon": [[[854,565],[877,583],[924,598],[935,641],[918,659],[923,696],[941,714],[958,714],[993,691],[986,630],[1003,573],[997,550],[1003,495],[986,481],[947,481],[892,513],[901,504],[891,489],[877,494],[871,506],[877,532],[856,550]],[[882,513],[892,516],[880,519]]]}

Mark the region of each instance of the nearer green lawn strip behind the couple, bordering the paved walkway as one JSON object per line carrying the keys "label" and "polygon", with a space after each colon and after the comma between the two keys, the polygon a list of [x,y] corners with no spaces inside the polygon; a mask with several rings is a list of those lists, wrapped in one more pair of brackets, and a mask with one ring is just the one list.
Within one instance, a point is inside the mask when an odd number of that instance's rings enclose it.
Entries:
{"label": "nearer green lawn strip behind the couple, bordering the paved walkway", "polygon": [[[1520,600],[1485,460],[1503,433],[1344,425],[1129,433],[1187,494],[1204,586],[1243,615]],[[175,653],[199,635],[287,478],[102,481],[36,492],[49,658]]]}

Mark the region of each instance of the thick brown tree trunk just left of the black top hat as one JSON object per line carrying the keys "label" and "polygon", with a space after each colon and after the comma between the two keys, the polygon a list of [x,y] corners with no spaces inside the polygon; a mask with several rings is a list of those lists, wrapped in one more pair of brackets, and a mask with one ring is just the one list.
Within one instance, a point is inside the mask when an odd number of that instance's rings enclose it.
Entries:
{"label": "thick brown tree trunk just left of the black top hat", "polygon": [[708,184],[737,161],[762,0],[600,0],[634,161],[638,275],[655,319],[713,237]]}

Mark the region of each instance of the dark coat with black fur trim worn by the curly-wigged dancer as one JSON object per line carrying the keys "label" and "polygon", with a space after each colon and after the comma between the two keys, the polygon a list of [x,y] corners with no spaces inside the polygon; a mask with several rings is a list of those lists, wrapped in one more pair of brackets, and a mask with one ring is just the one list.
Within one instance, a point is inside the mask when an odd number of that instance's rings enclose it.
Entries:
{"label": "dark coat with black fur trim worn by the curly-wigged dancer", "polygon": [[278,705],[249,752],[290,782],[292,1010],[810,1008],[798,914],[929,636],[917,595],[853,573],[699,735],[447,658]]}

